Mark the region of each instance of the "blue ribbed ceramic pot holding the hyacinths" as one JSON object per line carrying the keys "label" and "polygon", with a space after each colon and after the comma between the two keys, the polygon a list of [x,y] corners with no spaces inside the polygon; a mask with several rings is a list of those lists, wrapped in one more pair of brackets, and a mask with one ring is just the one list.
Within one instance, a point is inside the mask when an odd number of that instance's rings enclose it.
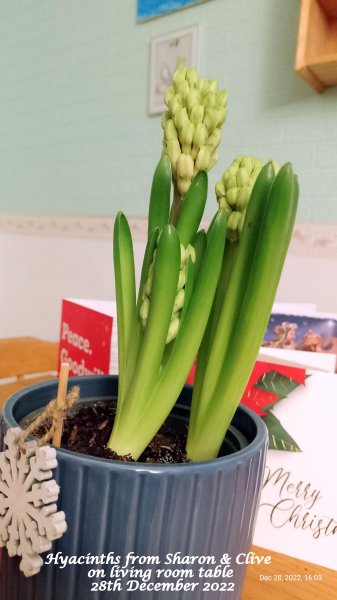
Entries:
{"label": "blue ribbed ceramic pot holding the hyacinths", "polygon": [[[72,378],[69,383],[78,381]],[[117,379],[81,377],[80,387],[82,399],[111,398],[116,396]],[[2,436],[6,428],[17,426],[55,397],[56,389],[54,381],[14,394],[3,409]],[[171,415],[177,426],[188,418],[190,396],[191,388],[186,386]],[[51,552],[54,556],[60,552],[58,556],[63,558],[85,557],[89,562],[90,557],[100,557],[109,563],[68,564],[65,568],[60,568],[60,563],[45,564],[38,575],[25,578],[19,572],[18,559],[9,559],[2,550],[1,600],[238,600],[245,565],[237,564],[236,558],[247,553],[252,542],[266,445],[267,430],[261,419],[240,407],[220,453],[224,456],[212,461],[123,463],[58,450],[54,473],[61,486],[58,510],[66,513],[68,531]],[[141,579],[134,577],[136,583],[122,578],[121,590],[114,583],[118,572],[115,567],[111,573],[112,561],[121,557],[116,566],[123,566],[130,552],[154,558],[134,565],[144,571],[145,588],[139,587]],[[177,559],[175,553],[180,553]],[[231,565],[226,567],[223,560],[221,576],[200,576],[200,569],[214,570],[224,554],[231,558]],[[182,557],[193,556],[206,558],[195,559],[194,564],[180,562]],[[239,562],[242,560],[240,556]],[[157,577],[157,569],[166,574]],[[230,569],[233,572],[228,575]],[[93,573],[96,570],[104,575]]]}

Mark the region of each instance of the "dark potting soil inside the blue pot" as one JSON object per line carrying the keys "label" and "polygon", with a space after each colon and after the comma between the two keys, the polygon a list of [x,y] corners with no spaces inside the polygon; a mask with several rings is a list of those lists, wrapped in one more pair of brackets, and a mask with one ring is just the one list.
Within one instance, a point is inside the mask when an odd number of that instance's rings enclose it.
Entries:
{"label": "dark potting soil inside the blue pot", "polygon": [[[113,400],[82,406],[65,420],[61,447],[99,458],[133,462],[131,456],[118,456],[107,448],[115,413]],[[176,431],[165,423],[138,462],[189,462],[185,453],[186,435],[187,431]]]}

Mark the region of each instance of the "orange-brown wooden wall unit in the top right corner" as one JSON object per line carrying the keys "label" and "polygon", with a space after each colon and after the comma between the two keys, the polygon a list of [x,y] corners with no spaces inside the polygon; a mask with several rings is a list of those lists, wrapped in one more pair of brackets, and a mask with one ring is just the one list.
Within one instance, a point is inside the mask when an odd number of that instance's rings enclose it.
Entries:
{"label": "orange-brown wooden wall unit in the top right corner", "polygon": [[295,70],[319,93],[337,85],[337,0],[301,0]]}

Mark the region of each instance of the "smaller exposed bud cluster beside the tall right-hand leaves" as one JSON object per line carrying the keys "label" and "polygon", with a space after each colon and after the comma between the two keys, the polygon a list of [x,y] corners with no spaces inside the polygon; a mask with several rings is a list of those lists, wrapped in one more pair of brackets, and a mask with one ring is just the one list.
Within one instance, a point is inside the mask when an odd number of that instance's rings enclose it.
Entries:
{"label": "smaller exposed bud cluster beside the tall right-hand leaves", "polygon": [[240,238],[249,198],[263,167],[254,156],[238,156],[215,186],[219,206],[227,215],[227,237]]}

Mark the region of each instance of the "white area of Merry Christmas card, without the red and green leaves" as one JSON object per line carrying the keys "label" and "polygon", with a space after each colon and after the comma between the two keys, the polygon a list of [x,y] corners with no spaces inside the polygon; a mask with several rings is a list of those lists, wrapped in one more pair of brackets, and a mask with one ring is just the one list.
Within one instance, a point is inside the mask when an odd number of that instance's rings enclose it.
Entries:
{"label": "white area of Merry Christmas card, without the red and green leaves", "polygon": [[268,450],[254,543],[337,569],[337,375],[309,375],[272,412],[301,452]]}

